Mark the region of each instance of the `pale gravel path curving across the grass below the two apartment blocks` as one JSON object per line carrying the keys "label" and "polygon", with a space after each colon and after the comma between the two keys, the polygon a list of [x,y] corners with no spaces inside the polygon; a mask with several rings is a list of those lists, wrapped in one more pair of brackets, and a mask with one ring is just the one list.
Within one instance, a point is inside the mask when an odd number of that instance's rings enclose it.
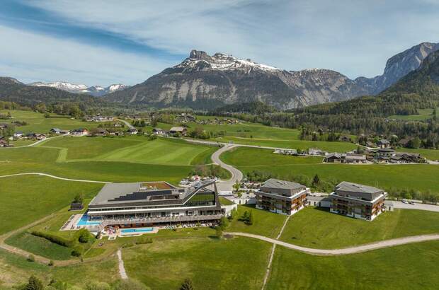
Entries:
{"label": "pale gravel path curving across the grass below the two apartment blocks", "polygon": [[439,234],[433,235],[422,235],[422,236],[411,236],[405,238],[394,238],[392,240],[382,240],[377,243],[370,243],[366,245],[358,245],[350,248],[336,249],[336,250],[324,250],[324,249],[313,249],[313,248],[305,248],[300,245],[293,245],[290,243],[285,243],[281,240],[275,240],[273,238],[267,238],[265,236],[253,235],[251,233],[224,233],[224,235],[233,235],[233,236],[244,236],[247,238],[257,238],[258,240],[265,240],[268,243],[273,243],[276,245],[282,245],[283,247],[290,248],[293,250],[298,250],[303,253],[311,254],[311,255],[348,255],[355,253],[363,253],[370,250],[377,250],[381,248],[394,247],[395,245],[405,245],[409,243],[419,243],[427,240],[439,240]]}

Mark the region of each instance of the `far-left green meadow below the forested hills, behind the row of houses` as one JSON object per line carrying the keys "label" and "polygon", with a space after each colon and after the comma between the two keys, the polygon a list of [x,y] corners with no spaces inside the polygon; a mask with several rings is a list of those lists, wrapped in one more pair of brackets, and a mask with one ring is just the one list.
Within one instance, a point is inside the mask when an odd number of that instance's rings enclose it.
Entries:
{"label": "far-left green meadow below the forested hills, behind the row of houses", "polygon": [[98,124],[93,122],[83,122],[82,120],[72,119],[69,116],[62,116],[56,114],[50,114],[49,118],[44,117],[44,114],[33,111],[23,110],[1,110],[3,114],[11,112],[13,119],[1,120],[4,123],[11,123],[13,121],[25,121],[28,124],[25,126],[16,127],[16,131],[21,132],[35,132],[35,133],[47,133],[52,128],[59,128],[63,130],[77,129],[86,127],[91,129],[97,127]]}

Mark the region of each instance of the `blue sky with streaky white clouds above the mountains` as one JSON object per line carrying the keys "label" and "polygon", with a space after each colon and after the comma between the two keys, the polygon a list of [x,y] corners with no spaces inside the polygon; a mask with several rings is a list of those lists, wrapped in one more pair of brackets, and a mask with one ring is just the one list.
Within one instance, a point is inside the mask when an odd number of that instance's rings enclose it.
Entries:
{"label": "blue sky with streaky white clouds above the mountains", "polygon": [[196,49],[370,77],[392,55],[439,42],[438,15],[436,0],[3,0],[0,75],[133,85]]}

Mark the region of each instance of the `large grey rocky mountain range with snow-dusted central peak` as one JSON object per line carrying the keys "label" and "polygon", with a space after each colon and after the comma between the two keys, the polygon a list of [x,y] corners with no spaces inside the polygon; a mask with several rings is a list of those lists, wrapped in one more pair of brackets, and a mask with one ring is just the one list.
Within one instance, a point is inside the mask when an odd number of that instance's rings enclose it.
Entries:
{"label": "large grey rocky mountain range with snow-dusted central peak", "polygon": [[423,42],[391,57],[381,76],[354,80],[329,69],[287,71],[250,59],[222,53],[210,56],[193,50],[181,64],[164,69],[143,83],[106,95],[106,99],[158,108],[212,109],[253,101],[281,110],[302,108],[376,95],[417,69],[423,59],[436,50],[439,44]]}

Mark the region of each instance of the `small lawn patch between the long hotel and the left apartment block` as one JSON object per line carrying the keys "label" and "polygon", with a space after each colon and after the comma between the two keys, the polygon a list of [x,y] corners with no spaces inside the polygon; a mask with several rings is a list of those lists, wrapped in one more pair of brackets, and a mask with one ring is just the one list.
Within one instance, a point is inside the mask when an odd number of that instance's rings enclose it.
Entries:
{"label": "small lawn patch between the long hotel and the left apartment block", "polygon": [[[251,226],[244,224],[243,221],[239,221],[244,211],[252,211],[253,213],[254,221]],[[249,205],[239,205],[237,217],[230,223],[227,231],[255,233],[256,235],[275,238],[278,236],[285,219],[286,216],[282,214],[273,214],[269,211],[255,209]]]}

